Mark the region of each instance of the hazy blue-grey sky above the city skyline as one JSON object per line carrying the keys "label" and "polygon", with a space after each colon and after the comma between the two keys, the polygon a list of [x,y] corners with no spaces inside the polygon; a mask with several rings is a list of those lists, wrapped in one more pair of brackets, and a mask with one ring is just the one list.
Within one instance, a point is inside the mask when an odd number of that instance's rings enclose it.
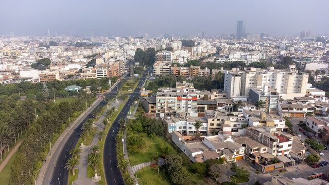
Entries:
{"label": "hazy blue-grey sky above the city skyline", "polygon": [[329,1],[317,0],[0,0],[0,35],[77,36],[329,33]]}

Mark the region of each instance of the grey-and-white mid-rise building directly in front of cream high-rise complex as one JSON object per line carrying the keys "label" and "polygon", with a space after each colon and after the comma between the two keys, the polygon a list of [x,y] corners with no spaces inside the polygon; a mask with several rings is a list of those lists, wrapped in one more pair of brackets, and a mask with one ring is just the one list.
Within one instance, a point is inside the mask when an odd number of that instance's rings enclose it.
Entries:
{"label": "grey-and-white mid-rise building directly in front of cream high-rise complex", "polygon": [[250,87],[249,99],[251,102],[262,101],[263,106],[259,107],[265,113],[276,113],[278,111],[278,104],[280,95],[276,90],[268,88],[268,85],[264,85],[262,88]]}

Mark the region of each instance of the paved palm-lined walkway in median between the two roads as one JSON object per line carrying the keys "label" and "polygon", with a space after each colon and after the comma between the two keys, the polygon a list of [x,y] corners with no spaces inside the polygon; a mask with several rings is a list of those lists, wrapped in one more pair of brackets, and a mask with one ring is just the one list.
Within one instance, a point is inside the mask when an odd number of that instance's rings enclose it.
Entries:
{"label": "paved palm-lined walkway in median between the two roads", "polygon": [[[92,145],[96,145],[99,141],[99,135],[97,134],[98,131],[102,131],[104,130],[104,125],[102,124],[102,121],[106,118],[107,115],[107,111],[109,109],[111,109],[111,107],[116,107],[118,108],[120,105],[120,100],[118,102],[112,102],[111,105],[109,107],[107,107],[107,110],[105,111],[105,113],[103,115],[100,116],[100,118],[98,119],[98,121],[94,122],[95,125],[97,126],[97,131],[96,134],[93,137],[93,140],[91,142],[90,145],[85,146],[83,149],[81,149],[80,151],[80,163],[76,166],[76,168],[79,169],[78,171],[78,179],[73,181],[73,185],[88,185],[88,184],[97,184],[97,182],[92,182],[91,178],[87,177],[87,171],[88,171],[88,155],[90,153],[92,153],[91,151],[91,147]],[[102,175],[102,174],[98,174],[99,172],[95,172],[97,173],[98,176]],[[104,177],[102,177],[104,178]],[[71,184],[70,184],[71,185]]]}

